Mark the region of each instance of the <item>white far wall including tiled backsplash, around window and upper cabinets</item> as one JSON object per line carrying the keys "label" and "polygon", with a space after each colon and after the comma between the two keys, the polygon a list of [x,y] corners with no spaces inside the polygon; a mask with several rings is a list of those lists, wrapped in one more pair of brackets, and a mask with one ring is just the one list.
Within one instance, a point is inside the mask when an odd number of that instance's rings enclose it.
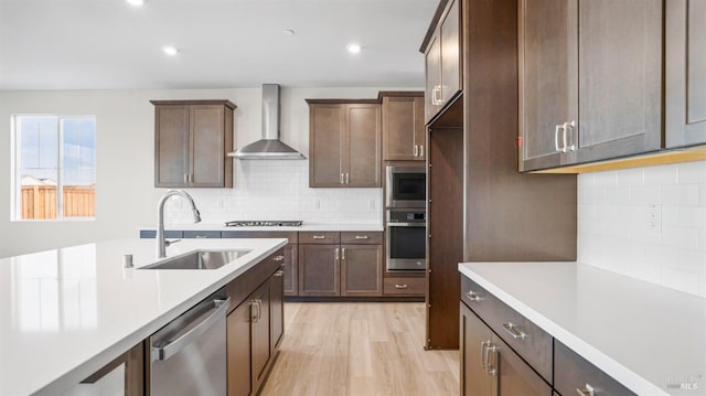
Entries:
{"label": "white far wall including tiled backsplash, around window and upper cabinets", "polygon": [[[385,88],[281,90],[281,138],[309,157],[304,98],[373,98]],[[199,90],[0,92],[0,257],[137,235],[156,222],[164,192],[153,188],[154,111],[150,99],[229,99],[235,145],[260,137],[260,88]],[[10,118],[13,114],[95,115],[97,125],[96,220],[10,221]],[[192,189],[204,222],[287,217],[310,222],[382,223],[379,189],[309,189],[307,161],[235,161],[235,188]],[[284,203],[284,204],[282,204]],[[170,205],[170,218],[184,211]]]}

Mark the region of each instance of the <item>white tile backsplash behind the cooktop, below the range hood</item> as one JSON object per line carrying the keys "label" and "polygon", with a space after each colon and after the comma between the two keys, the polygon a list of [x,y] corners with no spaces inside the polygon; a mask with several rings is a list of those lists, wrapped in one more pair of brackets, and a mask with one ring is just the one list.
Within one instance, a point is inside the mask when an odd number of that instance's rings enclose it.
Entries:
{"label": "white tile backsplash behind the cooktop, below the range hood", "polygon": [[[311,189],[309,160],[235,161],[233,189],[191,189],[204,223],[302,220],[317,224],[383,224],[382,189]],[[169,224],[191,223],[174,200]],[[170,202],[171,204],[171,202]]]}

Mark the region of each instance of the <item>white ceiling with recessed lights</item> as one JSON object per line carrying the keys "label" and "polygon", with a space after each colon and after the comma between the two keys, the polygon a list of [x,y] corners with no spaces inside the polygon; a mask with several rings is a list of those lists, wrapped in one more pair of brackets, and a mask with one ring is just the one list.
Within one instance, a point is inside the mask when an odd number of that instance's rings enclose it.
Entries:
{"label": "white ceiling with recessed lights", "polygon": [[[422,87],[418,50],[437,4],[0,0],[0,89]],[[351,42],[363,51],[349,54]],[[181,52],[165,56],[167,44]]]}

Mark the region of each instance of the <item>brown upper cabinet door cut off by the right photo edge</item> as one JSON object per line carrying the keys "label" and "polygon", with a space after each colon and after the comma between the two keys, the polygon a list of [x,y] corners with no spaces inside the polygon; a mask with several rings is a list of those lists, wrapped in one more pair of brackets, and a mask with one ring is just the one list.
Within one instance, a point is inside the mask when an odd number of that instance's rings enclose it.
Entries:
{"label": "brown upper cabinet door cut off by the right photo edge", "polygon": [[665,24],[666,147],[706,143],[706,2],[668,0]]}

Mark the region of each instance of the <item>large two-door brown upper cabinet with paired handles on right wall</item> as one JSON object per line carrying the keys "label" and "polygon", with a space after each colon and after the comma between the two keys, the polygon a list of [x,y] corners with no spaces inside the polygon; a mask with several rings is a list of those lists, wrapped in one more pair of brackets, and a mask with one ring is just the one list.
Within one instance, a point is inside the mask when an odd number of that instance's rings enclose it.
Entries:
{"label": "large two-door brown upper cabinet with paired handles on right wall", "polygon": [[520,1],[520,170],[662,147],[662,1]]}

